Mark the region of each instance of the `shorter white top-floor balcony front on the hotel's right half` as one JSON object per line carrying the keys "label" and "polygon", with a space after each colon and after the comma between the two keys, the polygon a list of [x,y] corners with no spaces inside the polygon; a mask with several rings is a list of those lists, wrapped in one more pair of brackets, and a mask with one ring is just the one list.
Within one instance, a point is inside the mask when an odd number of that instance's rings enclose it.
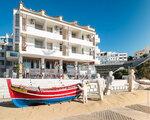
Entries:
{"label": "shorter white top-floor balcony front on the hotel's right half", "polygon": [[87,41],[87,40],[82,40],[80,38],[73,38],[70,37],[70,42],[73,44],[80,44],[80,45],[84,45],[84,46],[93,46],[93,42]]}

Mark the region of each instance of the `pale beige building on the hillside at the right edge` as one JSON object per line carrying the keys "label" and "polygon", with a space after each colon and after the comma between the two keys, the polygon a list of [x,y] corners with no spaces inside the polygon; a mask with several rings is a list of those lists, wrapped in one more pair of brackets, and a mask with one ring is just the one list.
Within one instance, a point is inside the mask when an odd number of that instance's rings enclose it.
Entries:
{"label": "pale beige building on the hillside at the right edge", "polygon": [[144,54],[150,54],[150,47],[145,47],[143,50],[136,51],[134,58],[140,58]]}

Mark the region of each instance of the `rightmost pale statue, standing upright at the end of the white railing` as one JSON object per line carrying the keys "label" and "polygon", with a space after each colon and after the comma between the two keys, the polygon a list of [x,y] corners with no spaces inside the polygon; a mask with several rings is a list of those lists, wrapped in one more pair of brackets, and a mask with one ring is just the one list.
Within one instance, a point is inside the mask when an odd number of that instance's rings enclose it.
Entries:
{"label": "rightmost pale statue, standing upright at the end of the white railing", "polygon": [[130,70],[130,74],[128,76],[128,91],[132,92],[133,88],[134,88],[134,81],[135,81],[135,75],[134,75],[135,71],[133,69]]}

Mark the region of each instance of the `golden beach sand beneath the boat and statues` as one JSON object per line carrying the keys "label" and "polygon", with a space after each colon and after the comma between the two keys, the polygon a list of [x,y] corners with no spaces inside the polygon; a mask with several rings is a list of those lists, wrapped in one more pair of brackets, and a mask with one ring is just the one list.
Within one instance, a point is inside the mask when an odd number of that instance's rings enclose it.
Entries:
{"label": "golden beach sand beneath the boat and statues", "polygon": [[72,101],[62,104],[16,108],[10,102],[4,102],[0,103],[0,120],[58,120],[126,105],[148,103],[148,98],[150,98],[150,91],[138,90],[132,93],[116,92],[105,96],[103,101],[93,98],[87,104]]}

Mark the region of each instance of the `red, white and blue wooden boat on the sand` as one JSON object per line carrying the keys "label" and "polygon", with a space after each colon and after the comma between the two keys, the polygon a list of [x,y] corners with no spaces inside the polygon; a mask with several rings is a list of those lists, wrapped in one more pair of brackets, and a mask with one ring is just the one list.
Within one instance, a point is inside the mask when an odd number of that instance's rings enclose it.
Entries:
{"label": "red, white and blue wooden boat on the sand", "polygon": [[8,79],[7,85],[12,102],[17,107],[71,101],[79,97],[81,93],[78,84],[40,89],[39,87],[13,85],[11,80]]}

